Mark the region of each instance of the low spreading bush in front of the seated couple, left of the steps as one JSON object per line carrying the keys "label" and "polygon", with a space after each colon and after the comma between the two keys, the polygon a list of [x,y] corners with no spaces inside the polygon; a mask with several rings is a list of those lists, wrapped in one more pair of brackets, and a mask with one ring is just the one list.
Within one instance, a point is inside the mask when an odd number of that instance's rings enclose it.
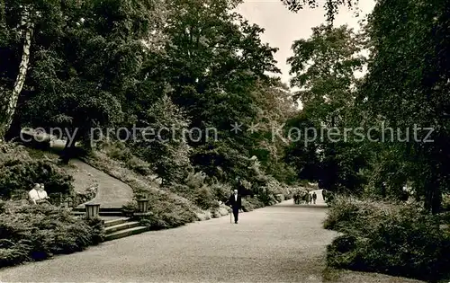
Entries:
{"label": "low spreading bush in front of the seated couple, left of the steps", "polygon": [[79,252],[101,243],[100,219],[85,221],[53,206],[4,202],[0,214],[0,267]]}

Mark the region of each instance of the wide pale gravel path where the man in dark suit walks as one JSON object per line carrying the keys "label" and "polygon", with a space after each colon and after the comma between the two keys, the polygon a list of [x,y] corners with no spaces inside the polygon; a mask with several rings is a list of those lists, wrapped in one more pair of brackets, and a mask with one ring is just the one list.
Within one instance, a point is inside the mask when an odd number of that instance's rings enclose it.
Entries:
{"label": "wide pale gravel path where the man in dark suit walks", "polygon": [[[321,200],[321,194],[318,194]],[[326,208],[293,200],[229,217],[138,234],[53,260],[0,270],[1,282],[419,282],[325,272]]]}

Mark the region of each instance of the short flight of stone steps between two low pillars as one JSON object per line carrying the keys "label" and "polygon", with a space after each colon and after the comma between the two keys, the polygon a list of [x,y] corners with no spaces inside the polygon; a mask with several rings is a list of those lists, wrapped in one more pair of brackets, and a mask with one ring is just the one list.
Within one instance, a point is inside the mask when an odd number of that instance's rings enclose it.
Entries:
{"label": "short flight of stone steps between two low pillars", "polygon": [[[74,208],[72,214],[84,217],[85,208]],[[148,227],[140,226],[139,221],[124,217],[121,208],[100,208],[99,216],[104,221],[105,242],[148,231]]]}

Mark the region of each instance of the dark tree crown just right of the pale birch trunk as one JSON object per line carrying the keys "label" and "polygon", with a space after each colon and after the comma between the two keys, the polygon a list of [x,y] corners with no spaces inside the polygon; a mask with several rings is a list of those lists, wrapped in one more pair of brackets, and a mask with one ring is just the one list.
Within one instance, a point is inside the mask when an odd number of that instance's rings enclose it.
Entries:
{"label": "dark tree crown just right of the pale birch trunk", "polygon": [[[14,12],[17,3],[7,2],[6,8]],[[157,0],[39,4],[34,10],[49,17],[36,22],[31,70],[14,119],[17,126],[67,129],[75,137],[62,156],[67,162],[76,140],[90,145],[91,128],[131,116],[123,111],[130,110],[128,98],[145,80],[144,62],[164,44],[165,5]],[[9,40],[2,52],[14,61],[15,49]],[[12,74],[5,66],[4,75]]]}

